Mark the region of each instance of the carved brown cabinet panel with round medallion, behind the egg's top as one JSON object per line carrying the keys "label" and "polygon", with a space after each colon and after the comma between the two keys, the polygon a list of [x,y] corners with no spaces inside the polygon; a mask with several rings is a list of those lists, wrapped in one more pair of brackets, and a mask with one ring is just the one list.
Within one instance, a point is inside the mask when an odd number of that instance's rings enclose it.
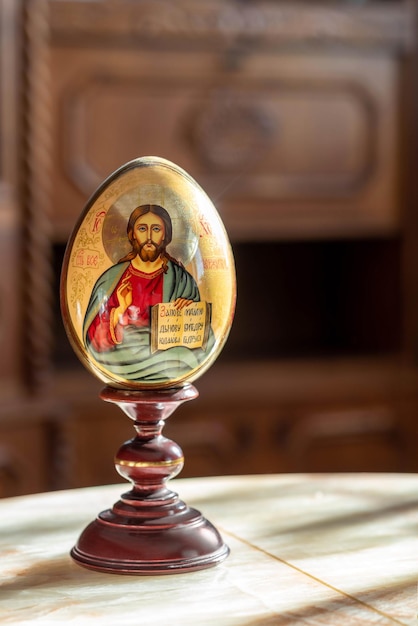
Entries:
{"label": "carved brown cabinet panel with round medallion, behind the egg's top", "polygon": [[251,232],[255,211],[258,236],[396,228],[393,59],[256,54],[234,70],[223,61],[213,53],[53,50],[60,233],[104,177],[146,154],[190,171],[233,238]]}

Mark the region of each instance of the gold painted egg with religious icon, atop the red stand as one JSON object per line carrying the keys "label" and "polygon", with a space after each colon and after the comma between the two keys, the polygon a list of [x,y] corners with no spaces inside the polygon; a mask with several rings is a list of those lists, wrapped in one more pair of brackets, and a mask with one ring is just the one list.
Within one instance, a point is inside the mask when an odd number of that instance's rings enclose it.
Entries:
{"label": "gold painted egg with religious icon, atop the red stand", "polygon": [[61,275],[61,310],[80,360],[125,389],[196,380],[227,339],[234,260],[212,202],[158,157],[130,161],[88,201]]}

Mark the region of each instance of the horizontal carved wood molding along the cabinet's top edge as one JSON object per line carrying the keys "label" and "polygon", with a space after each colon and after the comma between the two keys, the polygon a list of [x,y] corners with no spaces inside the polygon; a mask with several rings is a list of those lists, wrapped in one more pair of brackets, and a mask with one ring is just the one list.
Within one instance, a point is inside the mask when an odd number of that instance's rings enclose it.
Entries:
{"label": "horizontal carved wood molding along the cabinet's top edge", "polygon": [[[110,39],[140,44],[174,37],[205,43],[355,43],[408,47],[415,38],[409,3],[369,6],[316,5],[311,2],[196,3],[193,0],[49,0],[55,38]],[[412,5],[411,5],[412,6]]]}

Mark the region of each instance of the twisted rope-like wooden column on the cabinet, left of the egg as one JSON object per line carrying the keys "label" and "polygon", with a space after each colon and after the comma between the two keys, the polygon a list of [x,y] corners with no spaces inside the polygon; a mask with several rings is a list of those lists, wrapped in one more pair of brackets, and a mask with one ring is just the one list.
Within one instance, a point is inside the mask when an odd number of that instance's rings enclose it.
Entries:
{"label": "twisted rope-like wooden column on the cabinet, left of the egg", "polygon": [[50,378],[53,334],[48,1],[26,2],[23,24],[26,84],[22,137],[22,366],[29,388],[39,392]]}

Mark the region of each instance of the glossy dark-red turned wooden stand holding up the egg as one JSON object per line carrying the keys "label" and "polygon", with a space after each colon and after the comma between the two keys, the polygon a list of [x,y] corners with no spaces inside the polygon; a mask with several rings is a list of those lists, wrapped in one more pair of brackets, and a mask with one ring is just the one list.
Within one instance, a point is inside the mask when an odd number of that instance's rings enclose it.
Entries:
{"label": "glossy dark-red turned wooden stand holding up the egg", "polygon": [[84,567],[114,574],[169,574],[205,569],[229,554],[216,528],[188,507],[166,482],[181,471],[181,448],[161,432],[193,385],[158,391],[107,387],[103,400],[134,420],[136,437],[119,449],[115,466],[132,489],[98,515],[71,551]]}

